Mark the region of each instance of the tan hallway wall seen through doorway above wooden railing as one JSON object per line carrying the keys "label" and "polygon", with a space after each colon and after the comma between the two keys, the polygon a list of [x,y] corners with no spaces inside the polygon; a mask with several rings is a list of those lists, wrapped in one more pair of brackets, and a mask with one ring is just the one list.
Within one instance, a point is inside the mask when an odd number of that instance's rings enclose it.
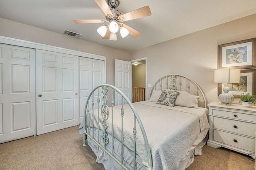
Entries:
{"label": "tan hallway wall seen through doorway above wooden railing", "polygon": [[146,86],[146,64],[132,65],[132,87]]}

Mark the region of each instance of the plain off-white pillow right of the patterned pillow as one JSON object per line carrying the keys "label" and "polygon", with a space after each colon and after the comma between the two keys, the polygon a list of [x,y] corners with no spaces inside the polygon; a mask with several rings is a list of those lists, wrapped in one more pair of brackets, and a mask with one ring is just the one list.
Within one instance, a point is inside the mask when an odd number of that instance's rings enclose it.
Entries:
{"label": "plain off-white pillow right of the patterned pillow", "polygon": [[175,101],[176,106],[198,108],[199,96],[191,95],[190,93],[188,93],[186,91],[178,91],[178,92],[179,92],[179,94]]}

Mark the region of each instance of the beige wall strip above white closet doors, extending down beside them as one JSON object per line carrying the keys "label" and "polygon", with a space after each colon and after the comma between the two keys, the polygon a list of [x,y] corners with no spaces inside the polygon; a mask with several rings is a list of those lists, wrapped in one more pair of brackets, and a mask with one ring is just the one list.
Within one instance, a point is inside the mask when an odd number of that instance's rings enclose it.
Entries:
{"label": "beige wall strip above white closet doors, extending down beside them", "polygon": [[86,42],[78,38],[57,34],[40,28],[20,24],[18,22],[5,20],[3,18],[0,18],[0,36],[105,56],[107,61],[106,83],[111,85],[114,85],[114,59],[129,60],[128,52]]}

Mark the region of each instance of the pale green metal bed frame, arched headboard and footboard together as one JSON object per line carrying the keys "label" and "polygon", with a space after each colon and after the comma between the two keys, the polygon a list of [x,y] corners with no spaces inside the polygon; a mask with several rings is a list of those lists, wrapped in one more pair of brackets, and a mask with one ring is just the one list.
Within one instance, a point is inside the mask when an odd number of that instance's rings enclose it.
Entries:
{"label": "pale green metal bed frame, arched headboard and footboard together", "polygon": [[[176,86],[177,81],[178,80],[178,87]],[[169,83],[170,82],[170,83]],[[201,107],[207,107],[206,106],[206,97],[204,96],[204,93],[202,91],[202,89],[191,79],[188,79],[187,77],[184,77],[182,75],[167,75],[164,76],[160,79],[158,79],[154,85],[152,86],[151,92],[150,92],[150,96],[153,92],[153,90],[159,90],[159,89],[172,89],[172,90],[183,90],[183,91],[187,91],[188,93],[192,94],[192,95],[198,95],[200,96],[200,98],[202,97],[202,106]],[[118,160],[118,158],[116,158],[114,156],[114,130],[113,130],[113,107],[115,105],[114,103],[114,96],[115,93],[119,93],[121,95],[121,99],[122,99],[122,109],[120,110],[120,114],[122,116],[122,137],[121,137],[121,143],[122,143],[122,153],[121,153],[121,161]],[[96,94],[96,95],[95,95]],[[110,135],[110,137],[112,138],[112,142],[110,144],[110,140],[108,137],[108,132],[107,132],[107,120],[109,118],[109,109],[108,109],[108,105],[107,105],[107,101],[108,101],[108,97],[107,94],[110,94],[111,97],[111,107],[112,107],[112,123],[111,123],[111,128],[112,128],[112,134]],[[97,96],[97,105],[95,105],[94,102],[94,97]],[[92,98],[92,99],[91,99]],[[102,99],[102,100],[101,100]],[[91,105],[89,105],[91,101]],[[100,148],[102,148],[102,150],[104,150],[104,152],[106,152],[108,155],[110,155],[118,164],[120,164],[120,166],[122,166],[124,169],[128,170],[128,168],[126,168],[126,166],[124,166],[124,162],[123,162],[123,150],[124,150],[124,136],[123,136],[123,116],[124,116],[124,109],[123,109],[123,105],[124,104],[128,104],[130,106],[130,108],[132,109],[133,113],[134,113],[134,127],[132,129],[133,132],[133,141],[134,141],[134,150],[133,150],[133,164],[136,164],[136,121],[138,122],[138,125],[140,127],[140,130],[142,131],[142,135],[144,138],[144,142],[145,142],[145,148],[146,148],[146,152],[147,152],[147,157],[148,157],[148,170],[152,170],[152,156],[151,156],[151,151],[150,151],[150,147],[148,144],[148,139],[146,136],[146,132],[144,130],[144,127],[142,125],[142,122],[140,120],[140,117],[137,113],[137,111],[135,110],[134,106],[132,105],[131,101],[128,99],[128,97],[126,97],[126,95],[124,95],[124,93],[122,93],[119,89],[117,89],[116,87],[112,86],[112,85],[108,85],[108,84],[102,84],[102,85],[98,85],[97,87],[95,87],[92,92],[90,93],[90,95],[88,96],[88,99],[86,101],[86,105],[85,105],[85,110],[84,110],[84,121],[83,121],[83,146],[86,146],[86,139],[89,137],[92,141],[94,141]],[[198,102],[199,104],[199,102]],[[95,109],[96,108],[96,109]],[[94,113],[95,110],[97,110],[97,113]],[[99,117],[101,116],[103,121],[102,121],[102,127],[103,127],[103,133],[100,136],[100,124],[98,123],[98,138],[95,138],[94,135],[90,135],[87,131],[86,131],[86,124],[90,125],[90,119],[86,120],[86,113],[89,113],[90,110],[92,110],[92,115],[94,114],[98,114],[98,122],[99,121]],[[86,122],[87,121],[87,122]],[[93,120],[92,120],[93,121]],[[94,123],[92,123],[92,134],[94,134]],[[103,145],[101,145],[100,142],[100,138],[101,140],[104,142]],[[112,150],[111,152],[109,152],[106,149],[106,146],[111,146]],[[133,167],[133,169],[135,170],[136,166]]]}

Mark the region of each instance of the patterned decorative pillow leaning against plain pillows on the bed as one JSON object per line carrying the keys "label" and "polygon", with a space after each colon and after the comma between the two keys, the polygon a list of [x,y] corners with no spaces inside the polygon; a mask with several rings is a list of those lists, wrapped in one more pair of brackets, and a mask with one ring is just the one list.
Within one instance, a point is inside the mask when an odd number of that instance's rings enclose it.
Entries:
{"label": "patterned decorative pillow leaning against plain pillows on the bed", "polygon": [[162,90],[161,95],[156,104],[167,105],[174,107],[175,100],[179,94],[177,91]]}

